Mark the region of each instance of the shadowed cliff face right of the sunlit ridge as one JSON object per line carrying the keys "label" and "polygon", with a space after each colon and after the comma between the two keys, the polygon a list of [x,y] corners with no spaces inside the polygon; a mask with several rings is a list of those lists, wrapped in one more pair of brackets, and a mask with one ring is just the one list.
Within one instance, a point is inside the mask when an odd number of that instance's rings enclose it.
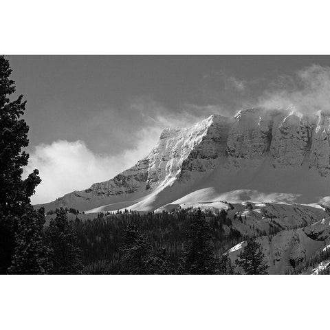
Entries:
{"label": "shadowed cliff face right of the sunlit ridge", "polygon": [[[248,109],[239,111],[234,120],[212,117],[208,135],[184,162],[184,169],[207,170],[212,166],[197,159],[225,157],[227,168],[259,166],[267,159],[274,168],[307,164],[322,176],[328,176],[330,156],[330,115],[316,113],[309,117],[292,111]],[[217,145],[213,146],[214,141]],[[205,158],[199,150],[214,151]],[[214,163],[214,162],[213,162]],[[210,162],[206,162],[210,164]]]}

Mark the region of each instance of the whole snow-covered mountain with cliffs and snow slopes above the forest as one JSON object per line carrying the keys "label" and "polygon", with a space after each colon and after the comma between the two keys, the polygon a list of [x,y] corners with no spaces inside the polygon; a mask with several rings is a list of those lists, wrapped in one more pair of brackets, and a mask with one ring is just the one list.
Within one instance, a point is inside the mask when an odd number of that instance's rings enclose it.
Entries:
{"label": "whole snow-covered mountain with cliffs and snow slopes above the forest", "polygon": [[221,201],[329,205],[329,137],[330,113],[322,111],[211,115],[189,128],[164,129],[132,168],[43,206],[100,212],[219,208]]}

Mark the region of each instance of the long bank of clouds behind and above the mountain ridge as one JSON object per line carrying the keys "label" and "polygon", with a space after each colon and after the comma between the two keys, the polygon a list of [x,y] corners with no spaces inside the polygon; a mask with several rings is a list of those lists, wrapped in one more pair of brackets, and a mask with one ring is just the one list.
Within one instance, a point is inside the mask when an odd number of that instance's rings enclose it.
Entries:
{"label": "long bank of clouds behind and above the mountain ridge", "polygon": [[[210,104],[186,102],[177,109],[168,109],[151,98],[138,97],[130,100],[124,111],[112,107],[98,113],[91,111],[89,118],[77,118],[80,129],[78,137],[72,138],[74,142],[69,138],[57,140],[30,151],[25,176],[38,168],[43,180],[32,203],[52,201],[111,179],[145,157],[168,126],[190,126],[212,113],[231,116],[239,109],[255,106],[293,106],[303,113],[330,110],[330,67],[311,65],[292,75],[274,77],[267,81],[244,80],[214,74],[203,78],[205,91],[212,96]],[[79,134],[87,143],[78,140]]]}

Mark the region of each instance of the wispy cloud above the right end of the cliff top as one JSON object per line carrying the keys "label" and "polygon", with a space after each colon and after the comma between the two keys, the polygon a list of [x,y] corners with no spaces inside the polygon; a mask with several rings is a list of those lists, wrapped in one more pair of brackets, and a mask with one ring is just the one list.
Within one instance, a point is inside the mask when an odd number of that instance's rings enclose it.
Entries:
{"label": "wispy cloud above the right end of the cliff top", "polygon": [[266,108],[294,107],[301,113],[330,110],[330,67],[311,65],[292,76],[280,76],[263,92],[259,105]]}

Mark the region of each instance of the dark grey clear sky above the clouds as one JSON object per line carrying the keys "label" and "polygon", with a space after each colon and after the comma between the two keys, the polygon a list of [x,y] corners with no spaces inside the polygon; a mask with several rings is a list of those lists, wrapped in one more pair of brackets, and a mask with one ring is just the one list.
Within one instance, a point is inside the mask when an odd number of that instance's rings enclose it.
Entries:
{"label": "dark grey clear sky above the clouds", "polygon": [[140,111],[132,109],[135,102],[141,107],[144,102],[151,107],[151,102],[156,103],[174,114],[183,111],[185,104],[220,104],[235,111],[241,107],[241,96],[228,90],[228,78],[249,83],[244,102],[251,100],[253,104],[265,84],[278,76],[311,64],[330,66],[329,56],[7,58],[17,91],[28,100],[31,146],[58,139],[84,140],[92,150],[102,153],[117,152],[116,145],[121,148],[132,143],[129,138],[114,141],[122,135],[121,129],[134,135],[135,129],[147,124]]}

